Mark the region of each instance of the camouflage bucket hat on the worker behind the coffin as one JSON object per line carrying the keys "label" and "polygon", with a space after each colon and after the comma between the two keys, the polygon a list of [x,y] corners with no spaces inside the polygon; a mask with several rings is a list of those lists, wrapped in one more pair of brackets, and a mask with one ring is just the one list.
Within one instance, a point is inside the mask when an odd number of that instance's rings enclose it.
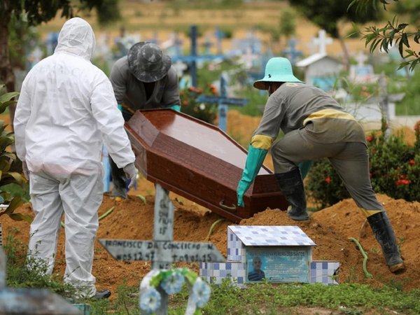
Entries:
{"label": "camouflage bucket hat on the worker behind the coffin", "polygon": [[128,50],[130,72],[141,82],[155,82],[167,75],[171,57],[164,55],[155,43],[141,41]]}

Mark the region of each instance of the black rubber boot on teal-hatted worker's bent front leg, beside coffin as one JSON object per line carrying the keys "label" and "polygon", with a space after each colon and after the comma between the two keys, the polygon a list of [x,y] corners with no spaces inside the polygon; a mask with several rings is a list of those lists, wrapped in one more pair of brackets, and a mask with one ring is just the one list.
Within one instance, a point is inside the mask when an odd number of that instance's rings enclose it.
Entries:
{"label": "black rubber boot on teal-hatted worker's bent front leg, beside coffin", "polygon": [[296,167],[287,173],[276,174],[276,180],[281,192],[290,204],[290,209],[287,211],[288,216],[295,221],[309,220],[299,168]]}

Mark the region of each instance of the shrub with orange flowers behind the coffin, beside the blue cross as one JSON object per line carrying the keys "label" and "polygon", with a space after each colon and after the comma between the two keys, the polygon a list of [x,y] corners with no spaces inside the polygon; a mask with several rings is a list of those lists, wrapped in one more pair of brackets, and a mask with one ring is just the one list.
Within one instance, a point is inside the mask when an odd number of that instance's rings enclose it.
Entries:
{"label": "shrub with orange flowers behind the coffin, beside the blue cross", "polygon": [[181,111],[206,123],[214,124],[217,118],[218,105],[197,102],[200,95],[218,95],[214,85],[208,83],[206,88],[186,87],[179,91],[181,97]]}

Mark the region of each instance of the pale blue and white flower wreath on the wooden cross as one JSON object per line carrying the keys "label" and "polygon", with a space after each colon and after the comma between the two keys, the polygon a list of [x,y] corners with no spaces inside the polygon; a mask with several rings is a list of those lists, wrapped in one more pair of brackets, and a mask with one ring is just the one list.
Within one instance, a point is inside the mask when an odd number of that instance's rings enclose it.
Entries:
{"label": "pale blue and white flower wreath on the wooden cross", "polygon": [[190,295],[186,315],[196,314],[198,309],[209,302],[211,290],[209,284],[188,268],[148,272],[140,284],[139,305],[141,314],[153,314],[158,311],[161,307],[162,295],[179,293],[184,283],[187,283]]}

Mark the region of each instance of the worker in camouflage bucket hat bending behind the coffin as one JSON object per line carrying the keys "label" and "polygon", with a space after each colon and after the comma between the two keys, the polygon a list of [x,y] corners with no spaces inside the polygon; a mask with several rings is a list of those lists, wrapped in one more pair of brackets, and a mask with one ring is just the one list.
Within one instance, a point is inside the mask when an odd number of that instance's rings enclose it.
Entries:
{"label": "worker in camouflage bucket hat bending behind the coffin", "polygon": [[[142,41],[132,45],[127,56],[113,64],[109,79],[125,121],[139,109],[180,110],[178,74],[171,57],[155,43]],[[125,173],[112,158],[109,162],[113,182],[111,196],[116,200],[127,198]]]}

